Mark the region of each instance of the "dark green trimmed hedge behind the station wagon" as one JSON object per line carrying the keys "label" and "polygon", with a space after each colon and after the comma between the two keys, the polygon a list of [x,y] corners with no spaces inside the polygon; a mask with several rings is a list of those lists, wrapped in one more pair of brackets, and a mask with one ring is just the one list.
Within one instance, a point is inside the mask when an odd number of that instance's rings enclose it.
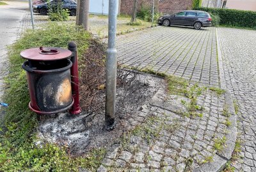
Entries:
{"label": "dark green trimmed hedge behind the station wagon", "polygon": [[256,29],[256,12],[233,10],[223,8],[194,8],[194,10],[202,10],[218,15],[220,17],[220,25],[250,27]]}

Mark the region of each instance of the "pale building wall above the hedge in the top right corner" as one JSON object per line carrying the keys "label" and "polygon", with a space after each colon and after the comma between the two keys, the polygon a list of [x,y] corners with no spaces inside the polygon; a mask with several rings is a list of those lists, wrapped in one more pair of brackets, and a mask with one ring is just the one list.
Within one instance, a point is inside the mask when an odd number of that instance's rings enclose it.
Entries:
{"label": "pale building wall above the hedge in the top right corner", "polygon": [[226,8],[256,11],[256,0],[227,0]]}

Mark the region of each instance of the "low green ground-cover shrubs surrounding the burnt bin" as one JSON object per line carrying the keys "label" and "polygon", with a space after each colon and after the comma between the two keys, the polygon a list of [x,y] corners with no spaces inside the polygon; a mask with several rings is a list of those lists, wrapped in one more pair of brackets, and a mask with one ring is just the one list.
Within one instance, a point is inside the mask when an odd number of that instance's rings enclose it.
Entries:
{"label": "low green ground-cover shrubs surrounding the burnt bin", "polygon": [[[39,36],[38,36],[39,35]],[[75,25],[47,24],[42,29],[26,31],[22,38],[8,48],[10,74],[4,79],[6,108],[4,133],[0,138],[0,171],[78,171],[79,167],[96,171],[106,151],[93,150],[84,157],[71,157],[66,147],[54,144],[35,146],[36,114],[28,109],[29,93],[24,59],[20,52],[31,47],[63,47],[76,41],[81,58],[88,48],[90,34]]]}

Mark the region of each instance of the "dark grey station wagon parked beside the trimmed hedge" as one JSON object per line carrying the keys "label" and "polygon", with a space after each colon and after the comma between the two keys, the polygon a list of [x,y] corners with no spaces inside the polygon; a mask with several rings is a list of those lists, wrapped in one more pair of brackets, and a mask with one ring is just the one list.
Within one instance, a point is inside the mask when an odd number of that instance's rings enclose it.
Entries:
{"label": "dark grey station wagon parked beside the trimmed hedge", "polygon": [[159,25],[187,25],[193,26],[195,29],[208,27],[212,25],[212,18],[205,11],[186,10],[175,15],[164,15],[157,22]]}

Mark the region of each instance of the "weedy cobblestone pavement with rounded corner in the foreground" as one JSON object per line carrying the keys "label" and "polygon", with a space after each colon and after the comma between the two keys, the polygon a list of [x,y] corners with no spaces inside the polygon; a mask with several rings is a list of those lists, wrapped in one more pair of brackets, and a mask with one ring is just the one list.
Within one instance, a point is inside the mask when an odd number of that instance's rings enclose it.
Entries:
{"label": "weedy cobblestone pavement with rounded corner in the foreground", "polygon": [[131,120],[132,131],[109,148],[99,172],[209,172],[218,171],[227,162],[233,149],[227,155],[217,146],[232,147],[230,141],[234,139],[227,136],[234,130],[226,124],[227,117],[223,115],[225,96],[205,91],[198,97],[198,104],[204,106],[202,116],[186,117],[173,111],[184,110],[180,102],[189,100],[164,95],[166,92],[160,89],[149,104],[140,108],[140,113]]}

